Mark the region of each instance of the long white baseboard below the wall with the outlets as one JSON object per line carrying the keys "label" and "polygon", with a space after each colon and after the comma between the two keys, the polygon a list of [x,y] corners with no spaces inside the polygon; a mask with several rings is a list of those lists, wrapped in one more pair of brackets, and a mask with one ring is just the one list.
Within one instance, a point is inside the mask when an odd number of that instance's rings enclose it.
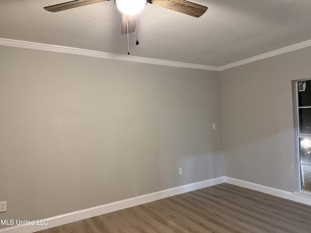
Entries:
{"label": "long white baseboard below the wall with the outlets", "polygon": [[[169,188],[169,189],[165,189],[165,190],[158,191],[158,192],[145,194],[145,195],[138,196],[135,198],[116,201],[116,202],[108,203],[105,205],[88,208],[85,210],[75,211],[75,212],[65,214],[65,215],[38,220],[39,224],[37,224],[37,221],[35,220],[35,224],[33,225],[30,224],[30,225],[11,226],[8,228],[1,229],[0,233],[34,233],[37,231],[42,231],[42,230],[49,229],[52,227],[64,225],[70,222],[79,221],[79,220],[86,219],[89,217],[104,215],[104,214],[111,213],[114,211],[144,204],[150,201],[172,197],[178,194],[190,192],[190,191],[200,189],[200,188],[206,188],[206,187],[220,184],[220,183],[225,183],[224,176],[201,181],[201,182],[181,185],[178,187]],[[30,219],[27,219],[27,220],[30,220]],[[44,223],[47,223],[47,225],[44,225]]]}

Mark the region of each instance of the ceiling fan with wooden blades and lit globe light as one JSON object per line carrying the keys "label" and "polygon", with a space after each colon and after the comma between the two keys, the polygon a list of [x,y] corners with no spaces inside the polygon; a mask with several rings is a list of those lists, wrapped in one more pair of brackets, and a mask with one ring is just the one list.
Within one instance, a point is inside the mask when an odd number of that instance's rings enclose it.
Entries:
{"label": "ceiling fan with wooden blades and lit globe light", "polygon": [[[85,6],[106,0],[73,0],[65,3],[60,3],[52,6],[44,7],[45,10],[50,12],[64,11],[75,7]],[[107,0],[108,1],[108,0]],[[136,28],[136,17],[141,10],[146,6],[147,3],[151,3],[160,7],[164,7],[173,11],[177,11],[192,17],[200,17],[206,11],[207,7],[202,6],[186,0],[114,0],[118,9],[123,13],[122,15],[122,27],[121,33],[133,33]],[[132,6],[137,11],[130,12]],[[138,12],[139,11],[139,12]]]}

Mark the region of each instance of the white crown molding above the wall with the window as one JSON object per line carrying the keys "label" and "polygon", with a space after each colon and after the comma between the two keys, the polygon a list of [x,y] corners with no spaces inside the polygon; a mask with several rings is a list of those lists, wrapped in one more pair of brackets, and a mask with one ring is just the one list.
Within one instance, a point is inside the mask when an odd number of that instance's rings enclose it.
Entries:
{"label": "white crown molding above the wall with the window", "polygon": [[287,47],[284,47],[284,48],[281,48],[278,50],[266,52],[266,53],[263,53],[263,54],[260,54],[260,55],[254,56],[254,57],[246,58],[246,59],[238,61],[238,62],[233,62],[233,63],[227,64],[225,66],[219,67],[219,70],[222,71],[225,69],[238,67],[238,66],[241,66],[241,65],[244,65],[247,63],[256,62],[256,61],[259,61],[259,60],[262,60],[262,59],[265,59],[268,57],[277,56],[277,55],[280,55],[280,54],[283,54],[286,52],[291,52],[294,50],[303,49],[303,48],[309,47],[309,46],[311,46],[311,40],[307,40],[307,41],[304,41],[304,42],[301,42],[298,44],[290,45],[290,46],[287,46]]}

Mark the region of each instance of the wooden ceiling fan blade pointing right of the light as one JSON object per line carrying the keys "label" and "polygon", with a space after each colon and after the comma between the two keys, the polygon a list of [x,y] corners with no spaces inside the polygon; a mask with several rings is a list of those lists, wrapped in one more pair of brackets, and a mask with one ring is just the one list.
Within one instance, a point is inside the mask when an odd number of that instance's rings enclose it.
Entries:
{"label": "wooden ceiling fan blade pointing right of the light", "polygon": [[186,0],[151,0],[151,3],[189,16],[200,17],[207,7]]}

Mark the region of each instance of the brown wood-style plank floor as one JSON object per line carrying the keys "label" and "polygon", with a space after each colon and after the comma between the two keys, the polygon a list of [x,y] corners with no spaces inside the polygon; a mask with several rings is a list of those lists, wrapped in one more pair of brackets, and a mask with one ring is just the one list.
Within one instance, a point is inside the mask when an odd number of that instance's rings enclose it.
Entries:
{"label": "brown wood-style plank floor", "polygon": [[38,233],[311,233],[311,206],[222,183]]}

